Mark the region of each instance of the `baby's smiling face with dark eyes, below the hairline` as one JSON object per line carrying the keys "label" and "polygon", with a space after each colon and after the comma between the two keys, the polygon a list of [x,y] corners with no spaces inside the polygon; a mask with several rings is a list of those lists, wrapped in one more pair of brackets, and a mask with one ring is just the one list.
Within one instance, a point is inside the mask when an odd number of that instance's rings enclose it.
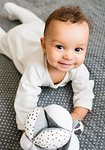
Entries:
{"label": "baby's smiling face with dark eyes, below the hairline", "polygon": [[79,67],[85,59],[89,27],[86,22],[71,23],[53,20],[41,39],[48,69],[67,72]]}

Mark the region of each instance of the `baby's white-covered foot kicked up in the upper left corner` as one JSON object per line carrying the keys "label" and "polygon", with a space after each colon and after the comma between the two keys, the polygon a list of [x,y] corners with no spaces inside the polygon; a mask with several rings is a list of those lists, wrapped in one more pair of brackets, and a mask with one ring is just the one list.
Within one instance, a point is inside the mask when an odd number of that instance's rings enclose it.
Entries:
{"label": "baby's white-covered foot kicked up in the upper left corner", "polygon": [[17,14],[20,13],[18,5],[11,3],[11,2],[7,2],[4,4],[4,9],[8,15],[9,20],[11,21],[18,20]]}

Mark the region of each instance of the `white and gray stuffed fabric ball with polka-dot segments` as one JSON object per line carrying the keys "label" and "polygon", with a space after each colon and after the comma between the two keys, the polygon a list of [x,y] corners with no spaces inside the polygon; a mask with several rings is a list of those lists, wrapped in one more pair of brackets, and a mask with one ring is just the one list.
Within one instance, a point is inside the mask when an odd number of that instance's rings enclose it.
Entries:
{"label": "white and gray stuffed fabric ball with polka-dot segments", "polygon": [[20,144],[24,150],[79,150],[82,132],[82,123],[63,107],[36,107],[27,116]]}

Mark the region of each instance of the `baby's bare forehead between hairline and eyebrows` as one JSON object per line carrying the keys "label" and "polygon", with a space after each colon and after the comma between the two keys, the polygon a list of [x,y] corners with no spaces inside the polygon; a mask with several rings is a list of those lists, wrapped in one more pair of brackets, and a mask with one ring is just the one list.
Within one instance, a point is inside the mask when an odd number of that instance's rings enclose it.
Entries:
{"label": "baby's bare forehead between hairline and eyebrows", "polygon": [[46,30],[46,42],[62,45],[87,45],[89,27],[86,22],[72,23],[53,20]]}

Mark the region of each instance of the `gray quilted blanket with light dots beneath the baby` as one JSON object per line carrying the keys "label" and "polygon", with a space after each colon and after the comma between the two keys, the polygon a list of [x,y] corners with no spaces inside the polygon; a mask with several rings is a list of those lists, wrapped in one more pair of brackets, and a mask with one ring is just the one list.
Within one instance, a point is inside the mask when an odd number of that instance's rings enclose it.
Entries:
{"label": "gray quilted blanket with light dots beneath the baby", "polygon": [[[0,26],[6,31],[19,24],[7,20],[0,0]],[[10,0],[36,13],[41,19],[61,5],[78,4],[92,20],[93,29],[89,39],[85,64],[95,81],[93,109],[83,120],[84,133],[79,137],[80,150],[105,150],[105,0]],[[14,98],[20,80],[20,73],[13,62],[0,54],[0,150],[21,150],[14,112]],[[42,87],[38,105],[52,103],[72,111],[72,87],[68,83],[56,90]]]}

